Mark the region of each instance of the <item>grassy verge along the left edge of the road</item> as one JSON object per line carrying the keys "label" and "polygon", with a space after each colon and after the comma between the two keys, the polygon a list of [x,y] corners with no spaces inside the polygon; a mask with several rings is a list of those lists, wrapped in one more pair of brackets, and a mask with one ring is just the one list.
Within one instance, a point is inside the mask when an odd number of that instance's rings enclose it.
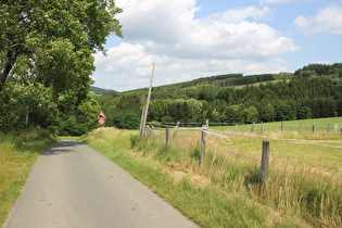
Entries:
{"label": "grassy verge along the left edge of the road", "polygon": [[25,185],[27,175],[45,148],[56,139],[48,134],[31,130],[21,136],[0,134],[0,225]]}

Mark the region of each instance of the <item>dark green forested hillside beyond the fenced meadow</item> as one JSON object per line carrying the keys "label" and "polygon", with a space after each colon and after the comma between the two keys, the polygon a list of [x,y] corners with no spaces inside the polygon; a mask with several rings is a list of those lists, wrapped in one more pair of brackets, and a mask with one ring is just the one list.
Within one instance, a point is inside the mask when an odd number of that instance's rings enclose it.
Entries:
{"label": "dark green forested hillside beyond the fenced meadow", "polygon": [[[106,126],[137,129],[147,94],[139,89],[96,100]],[[311,64],[294,74],[219,75],[154,87],[148,122],[201,126],[205,119],[232,125],[341,115],[342,64]]]}

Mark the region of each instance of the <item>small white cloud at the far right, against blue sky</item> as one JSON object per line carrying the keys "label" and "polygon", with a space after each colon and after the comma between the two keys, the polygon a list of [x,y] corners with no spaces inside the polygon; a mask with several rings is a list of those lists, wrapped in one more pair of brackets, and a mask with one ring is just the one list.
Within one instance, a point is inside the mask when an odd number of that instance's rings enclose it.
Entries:
{"label": "small white cloud at the far right, against blue sky", "polygon": [[342,35],[342,9],[331,4],[320,9],[316,16],[297,16],[293,25],[306,35],[318,33]]}

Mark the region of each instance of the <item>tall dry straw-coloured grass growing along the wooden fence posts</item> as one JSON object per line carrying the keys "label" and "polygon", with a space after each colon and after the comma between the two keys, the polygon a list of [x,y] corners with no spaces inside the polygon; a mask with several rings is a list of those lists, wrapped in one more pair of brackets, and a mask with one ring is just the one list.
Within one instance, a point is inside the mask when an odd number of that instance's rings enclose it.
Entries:
{"label": "tall dry straw-coloured grass growing along the wooden fence posts", "polygon": [[[299,138],[294,132],[276,131],[270,132],[269,136]],[[313,138],[311,134],[305,136],[303,132],[301,137]],[[259,185],[259,141],[240,139],[235,141],[240,144],[227,147],[219,139],[208,137],[205,160],[200,164],[200,131],[179,132],[170,139],[169,151],[165,152],[164,138],[155,137],[151,140],[141,140],[136,151],[140,151],[142,156],[157,160],[163,164],[163,172],[170,174],[176,180],[187,178],[201,188],[214,185],[221,191],[229,192],[231,198],[243,195],[244,201],[253,201],[270,207],[275,212],[269,218],[270,224],[271,220],[279,221],[286,216],[296,217],[308,226],[342,226],[340,174],[312,166],[309,161],[301,164],[301,161],[296,160],[292,163],[293,160],[287,156],[271,153],[267,180],[264,185]],[[288,147],[297,150],[294,145]],[[242,148],[250,149],[252,152],[239,151]],[[259,154],[255,152],[256,150],[259,150]],[[301,153],[301,151],[293,153]]]}

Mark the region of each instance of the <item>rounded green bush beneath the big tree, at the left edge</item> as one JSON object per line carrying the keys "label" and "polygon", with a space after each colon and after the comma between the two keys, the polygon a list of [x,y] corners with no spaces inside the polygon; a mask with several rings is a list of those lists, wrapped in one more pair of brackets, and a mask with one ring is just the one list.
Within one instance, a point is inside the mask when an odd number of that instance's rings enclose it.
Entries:
{"label": "rounded green bush beneath the big tree, at the left edge", "polygon": [[54,132],[59,125],[58,107],[52,101],[52,91],[41,84],[9,85],[0,92],[0,131],[21,131],[28,126],[40,126]]}

